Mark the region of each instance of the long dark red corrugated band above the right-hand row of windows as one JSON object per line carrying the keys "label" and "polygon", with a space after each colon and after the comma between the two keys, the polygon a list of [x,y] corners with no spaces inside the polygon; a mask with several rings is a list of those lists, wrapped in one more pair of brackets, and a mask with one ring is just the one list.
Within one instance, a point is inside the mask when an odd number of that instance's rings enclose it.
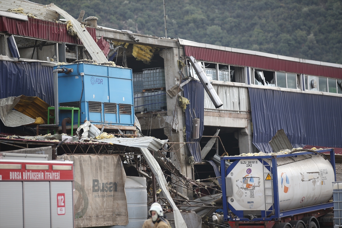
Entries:
{"label": "long dark red corrugated band above the right-hand row of windows", "polygon": [[194,56],[197,60],[202,61],[342,79],[342,68],[338,67],[300,63],[259,55],[210,48],[200,48],[187,45],[184,45],[184,50],[187,56]]}

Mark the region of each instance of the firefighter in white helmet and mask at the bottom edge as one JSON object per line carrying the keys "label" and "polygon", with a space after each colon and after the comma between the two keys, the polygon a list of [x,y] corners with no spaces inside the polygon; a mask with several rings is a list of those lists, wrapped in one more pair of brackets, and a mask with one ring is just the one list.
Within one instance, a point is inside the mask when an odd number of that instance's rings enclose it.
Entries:
{"label": "firefighter in white helmet and mask at the bottom edge", "polygon": [[149,210],[150,219],[147,219],[143,228],[171,228],[168,220],[165,219],[163,209],[159,203],[153,203]]}

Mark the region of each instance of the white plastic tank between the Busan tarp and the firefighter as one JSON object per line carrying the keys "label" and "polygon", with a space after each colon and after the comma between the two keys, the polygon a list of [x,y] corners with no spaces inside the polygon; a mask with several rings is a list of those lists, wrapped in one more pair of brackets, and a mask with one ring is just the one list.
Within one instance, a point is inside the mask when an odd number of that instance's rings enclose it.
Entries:
{"label": "white plastic tank between the Busan tarp and the firefighter", "polygon": [[141,228],[147,219],[146,178],[127,176],[125,192],[128,210],[128,225],[111,228]]}

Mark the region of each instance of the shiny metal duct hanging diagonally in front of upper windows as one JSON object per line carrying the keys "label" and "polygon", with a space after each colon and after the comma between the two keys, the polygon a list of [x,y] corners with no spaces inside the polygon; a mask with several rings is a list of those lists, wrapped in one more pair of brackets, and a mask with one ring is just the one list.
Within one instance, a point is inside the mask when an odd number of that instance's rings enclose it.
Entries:
{"label": "shiny metal duct hanging diagonally in front of upper windows", "polygon": [[208,95],[209,95],[211,101],[213,102],[215,108],[220,108],[223,105],[223,103],[222,103],[219,95],[217,95],[217,93],[215,92],[213,86],[210,84],[210,81],[207,78],[207,74],[203,71],[202,67],[199,65],[199,63],[196,61],[196,59],[193,56],[189,57],[189,61],[190,61],[191,65],[194,67],[194,70],[195,70],[199,80],[203,84],[204,89],[208,93]]}

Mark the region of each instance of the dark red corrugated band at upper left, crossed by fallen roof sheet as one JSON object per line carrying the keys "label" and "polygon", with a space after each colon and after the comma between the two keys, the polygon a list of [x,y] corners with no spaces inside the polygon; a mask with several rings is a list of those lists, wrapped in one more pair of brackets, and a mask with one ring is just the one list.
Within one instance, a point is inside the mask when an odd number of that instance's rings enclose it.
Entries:
{"label": "dark red corrugated band at upper left, crossed by fallen roof sheet", "polygon": [[[96,42],[96,29],[92,27],[86,27],[86,29]],[[22,21],[0,16],[0,31],[49,41],[82,44],[80,40],[68,34],[66,23],[44,21],[31,17],[28,18],[28,21]]]}

